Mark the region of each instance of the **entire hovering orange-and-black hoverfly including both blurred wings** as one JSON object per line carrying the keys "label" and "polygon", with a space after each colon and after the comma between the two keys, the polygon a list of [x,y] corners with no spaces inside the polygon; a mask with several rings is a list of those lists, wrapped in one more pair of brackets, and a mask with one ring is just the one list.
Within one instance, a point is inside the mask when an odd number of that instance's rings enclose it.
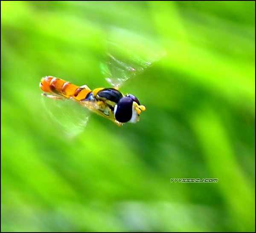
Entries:
{"label": "entire hovering orange-and-black hoverfly including both blurred wings", "polygon": [[112,31],[111,38],[107,41],[108,53],[100,63],[102,75],[111,84],[111,88],[91,90],[87,85],[79,87],[52,76],[41,79],[43,105],[52,120],[69,136],[75,136],[84,130],[90,112],[121,126],[126,122],[138,122],[141,112],[145,111],[145,106],[140,104],[137,97],[122,94],[119,88],[128,79],[137,77],[154,65],[165,53],[151,40],[127,31]]}

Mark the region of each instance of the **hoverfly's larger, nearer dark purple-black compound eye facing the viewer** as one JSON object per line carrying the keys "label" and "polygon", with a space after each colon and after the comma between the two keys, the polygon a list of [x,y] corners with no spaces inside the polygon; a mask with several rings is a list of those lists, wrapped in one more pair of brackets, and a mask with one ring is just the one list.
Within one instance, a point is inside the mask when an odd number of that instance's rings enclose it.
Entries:
{"label": "hoverfly's larger, nearer dark purple-black compound eye facing the viewer", "polygon": [[119,122],[128,122],[132,116],[133,99],[131,97],[123,97],[119,100],[115,107],[114,114]]}

